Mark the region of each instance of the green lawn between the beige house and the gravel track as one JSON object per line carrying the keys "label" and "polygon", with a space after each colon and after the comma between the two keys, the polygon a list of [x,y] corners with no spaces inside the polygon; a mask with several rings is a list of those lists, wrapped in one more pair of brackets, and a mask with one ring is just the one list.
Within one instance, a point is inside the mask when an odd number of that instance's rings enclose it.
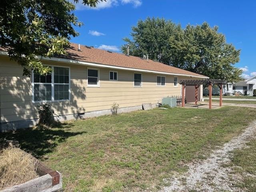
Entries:
{"label": "green lawn between the beige house and the gravel track", "polygon": [[255,113],[230,106],[154,109],[3,136],[60,171],[67,192],[156,190],[173,171],[185,171],[184,164],[238,135]]}

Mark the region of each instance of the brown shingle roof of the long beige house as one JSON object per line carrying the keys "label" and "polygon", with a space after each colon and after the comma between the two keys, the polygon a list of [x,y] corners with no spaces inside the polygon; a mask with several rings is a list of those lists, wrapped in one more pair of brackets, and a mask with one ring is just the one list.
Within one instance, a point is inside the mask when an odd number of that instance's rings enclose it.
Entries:
{"label": "brown shingle roof of the long beige house", "polygon": [[124,54],[119,54],[115,52],[108,52],[105,50],[100,50],[88,46],[80,46],[80,51],[78,51],[78,44],[70,43],[70,48],[67,50],[68,55],[64,58],[74,59],[83,62],[106,64],[110,66],[135,68],[142,70],[152,70],[157,72],[167,72],[175,74],[186,74],[192,76],[205,77],[206,76],[182,70],[176,67],[168,66],[160,62],[155,62],[153,60],[142,59],[135,56],[127,56]]}

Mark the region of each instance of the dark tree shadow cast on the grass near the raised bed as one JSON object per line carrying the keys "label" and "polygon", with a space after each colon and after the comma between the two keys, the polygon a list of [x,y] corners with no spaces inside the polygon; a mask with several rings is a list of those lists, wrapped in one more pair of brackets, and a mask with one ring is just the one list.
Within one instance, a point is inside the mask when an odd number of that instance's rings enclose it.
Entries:
{"label": "dark tree shadow cast on the grass near the raised bed", "polygon": [[55,128],[36,128],[20,129],[14,132],[2,134],[1,138],[7,140],[18,140],[20,148],[32,153],[36,158],[53,152],[60,143],[65,142],[69,137],[84,134],[86,132],[71,132],[72,124],[61,123]]}

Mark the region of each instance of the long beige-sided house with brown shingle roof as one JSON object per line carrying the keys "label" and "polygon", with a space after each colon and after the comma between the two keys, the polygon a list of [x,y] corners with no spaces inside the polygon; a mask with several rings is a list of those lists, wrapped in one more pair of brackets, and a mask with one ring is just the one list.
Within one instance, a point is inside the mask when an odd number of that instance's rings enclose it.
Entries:
{"label": "long beige-sided house with brown shingle roof", "polygon": [[52,67],[47,76],[22,76],[23,68],[0,52],[0,131],[35,125],[43,103],[61,114],[61,120],[110,114],[114,102],[119,112],[128,112],[142,109],[142,103],[180,96],[180,80],[208,78],[152,60],[70,46],[65,57],[42,58]]}

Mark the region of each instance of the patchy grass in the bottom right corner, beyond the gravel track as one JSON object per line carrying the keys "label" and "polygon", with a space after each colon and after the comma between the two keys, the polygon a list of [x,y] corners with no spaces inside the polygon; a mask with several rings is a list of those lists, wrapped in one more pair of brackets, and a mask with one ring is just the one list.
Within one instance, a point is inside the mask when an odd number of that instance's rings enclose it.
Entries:
{"label": "patchy grass in the bottom right corner, beyond the gravel track", "polygon": [[256,139],[248,144],[247,148],[234,151],[231,166],[233,173],[238,174],[240,179],[234,181],[234,185],[248,192],[256,189]]}

